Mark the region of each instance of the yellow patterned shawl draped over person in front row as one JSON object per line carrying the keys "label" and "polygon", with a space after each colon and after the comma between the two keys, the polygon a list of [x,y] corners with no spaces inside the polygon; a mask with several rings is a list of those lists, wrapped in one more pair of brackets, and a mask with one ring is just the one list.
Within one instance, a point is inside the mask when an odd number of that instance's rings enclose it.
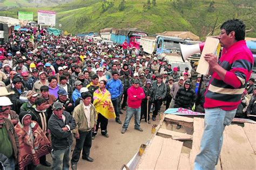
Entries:
{"label": "yellow patterned shawl draped over person in front row", "polygon": [[93,93],[93,105],[96,112],[102,114],[106,119],[116,118],[110,92],[106,89],[104,91],[97,89]]}

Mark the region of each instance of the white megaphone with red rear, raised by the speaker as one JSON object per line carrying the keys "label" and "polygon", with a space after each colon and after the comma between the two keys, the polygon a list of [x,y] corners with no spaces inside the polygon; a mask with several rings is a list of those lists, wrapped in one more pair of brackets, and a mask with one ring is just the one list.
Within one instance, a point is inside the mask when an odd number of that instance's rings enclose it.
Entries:
{"label": "white megaphone with red rear, raised by the speaker", "polygon": [[179,49],[180,49],[181,58],[182,58],[183,62],[185,62],[185,60],[188,57],[190,57],[196,53],[202,52],[204,49],[204,45],[205,45],[205,42],[193,44],[193,45],[184,45],[184,44],[179,43]]}

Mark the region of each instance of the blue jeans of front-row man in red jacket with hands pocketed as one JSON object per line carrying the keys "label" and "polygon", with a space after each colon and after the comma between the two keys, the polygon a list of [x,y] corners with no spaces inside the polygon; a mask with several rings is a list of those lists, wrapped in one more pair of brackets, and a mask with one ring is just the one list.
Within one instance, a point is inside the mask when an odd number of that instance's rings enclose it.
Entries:
{"label": "blue jeans of front-row man in red jacket with hands pocketed", "polygon": [[127,106],[126,117],[125,117],[124,125],[123,125],[123,128],[125,130],[127,130],[133,114],[134,114],[134,124],[135,124],[134,127],[135,128],[140,127],[140,125],[139,125],[139,123],[140,123],[140,107],[139,108],[131,108],[131,107]]}

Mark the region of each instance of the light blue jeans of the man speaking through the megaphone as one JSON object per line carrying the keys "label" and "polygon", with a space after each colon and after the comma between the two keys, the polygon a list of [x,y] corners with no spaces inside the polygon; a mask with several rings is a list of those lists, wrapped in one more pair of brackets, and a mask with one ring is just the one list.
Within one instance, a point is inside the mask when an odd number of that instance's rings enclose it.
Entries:
{"label": "light blue jeans of the man speaking through the megaphone", "polygon": [[200,153],[194,161],[194,169],[215,169],[223,144],[223,131],[230,125],[237,109],[224,111],[221,108],[205,109],[205,128],[201,139]]}

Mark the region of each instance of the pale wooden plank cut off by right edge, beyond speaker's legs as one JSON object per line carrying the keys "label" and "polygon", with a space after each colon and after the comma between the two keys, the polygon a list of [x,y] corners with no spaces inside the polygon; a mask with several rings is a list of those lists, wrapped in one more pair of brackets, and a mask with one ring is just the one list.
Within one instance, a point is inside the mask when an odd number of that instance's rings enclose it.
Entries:
{"label": "pale wooden plank cut off by right edge, beyond speaker's legs", "polygon": [[252,146],[254,154],[256,154],[256,136],[255,136],[256,124],[245,123],[244,131],[245,131],[245,134]]}

